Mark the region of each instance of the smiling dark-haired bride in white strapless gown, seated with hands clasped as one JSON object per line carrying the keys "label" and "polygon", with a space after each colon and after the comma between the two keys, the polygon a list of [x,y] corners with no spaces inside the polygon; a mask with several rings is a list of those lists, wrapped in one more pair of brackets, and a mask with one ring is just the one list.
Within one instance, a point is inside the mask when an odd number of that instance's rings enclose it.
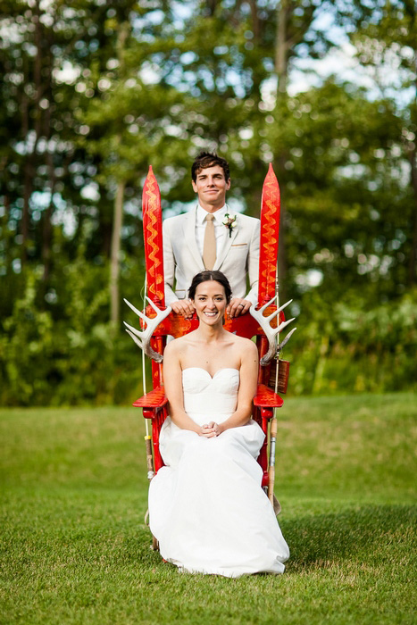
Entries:
{"label": "smiling dark-haired bride in white strapless gown, seated with hands clasped", "polygon": [[282,573],[288,546],[261,487],[264,434],[251,419],[256,346],[223,329],[231,290],[221,271],[198,273],[188,296],[199,326],[164,352],[170,416],[160,436],[166,466],[149,489],[151,531],[180,571]]}

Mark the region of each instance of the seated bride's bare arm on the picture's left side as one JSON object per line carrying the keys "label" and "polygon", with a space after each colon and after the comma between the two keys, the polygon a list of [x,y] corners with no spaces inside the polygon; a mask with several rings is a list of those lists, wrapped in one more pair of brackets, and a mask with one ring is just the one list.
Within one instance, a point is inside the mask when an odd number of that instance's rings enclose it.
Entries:
{"label": "seated bride's bare arm on the picture's left side", "polygon": [[184,410],[182,371],[179,363],[179,349],[176,341],[171,341],[163,353],[163,382],[169,402],[171,421],[181,429],[190,429],[201,436],[202,429]]}

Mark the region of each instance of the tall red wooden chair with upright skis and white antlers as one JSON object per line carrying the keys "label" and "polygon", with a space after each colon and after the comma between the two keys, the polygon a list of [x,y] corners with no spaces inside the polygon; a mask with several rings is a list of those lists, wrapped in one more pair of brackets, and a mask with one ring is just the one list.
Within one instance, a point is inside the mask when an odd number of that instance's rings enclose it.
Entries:
{"label": "tall red wooden chair with upright skis and white antlers", "polygon": [[[151,479],[154,473],[163,466],[163,458],[159,450],[159,433],[163,421],[168,415],[168,400],[163,388],[163,349],[166,344],[166,337],[169,335],[181,337],[196,329],[198,321],[196,315],[193,319],[186,320],[175,312],[171,312],[171,308],[166,308],[164,305],[162,211],[159,188],[152,167],[149,168],[143,192],[143,217],[146,281],[150,305],[146,307],[145,314],[143,314],[127,302],[141,318],[141,330],[138,331],[128,324],[126,326],[129,335],[153,359],[153,389],[133,404],[142,408],[145,419],[152,422],[152,446],[151,437],[146,437],[148,476]],[[260,237],[257,310],[251,308],[250,314],[237,319],[226,318],[224,327],[231,332],[236,332],[241,337],[256,337],[261,366],[259,367],[258,387],[254,397],[252,418],[259,423],[266,435],[258,462],[263,469],[262,485],[268,492],[271,503],[273,503],[273,458],[276,434],[276,420],[273,417],[275,408],[280,408],[284,403],[275,392],[276,388],[271,388],[271,386],[275,386],[274,371],[276,370],[276,357],[280,348],[277,346],[276,337],[279,331],[293,320],[285,321],[284,314],[281,312],[287,304],[281,306],[281,309],[277,311],[277,305],[274,303],[278,288],[276,276],[279,242],[279,185],[271,165],[263,184]],[[279,317],[279,327],[277,327],[277,317]],[[294,330],[288,333],[283,343],[288,341]],[[288,362],[278,362],[278,390],[285,393],[288,384]],[[270,427],[271,421],[275,422],[275,427]],[[268,446],[272,452],[270,453],[270,466]]]}

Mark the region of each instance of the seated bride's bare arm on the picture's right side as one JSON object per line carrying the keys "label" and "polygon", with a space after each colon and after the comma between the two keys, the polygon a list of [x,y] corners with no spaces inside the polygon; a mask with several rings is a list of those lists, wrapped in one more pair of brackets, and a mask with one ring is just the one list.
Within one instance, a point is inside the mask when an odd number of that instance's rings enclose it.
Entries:
{"label": "seated bride's bare arm on the picture's right side", "polygon": [[[217,435],[225,429],[246,425],[252,414],[252,400],[256,395],[258,379],[258,350],[252,341],[247,341],[241,357],[238,406],[235,412],[222,423],[215,424]],[[211,425],[211,424],[210,424]]]}

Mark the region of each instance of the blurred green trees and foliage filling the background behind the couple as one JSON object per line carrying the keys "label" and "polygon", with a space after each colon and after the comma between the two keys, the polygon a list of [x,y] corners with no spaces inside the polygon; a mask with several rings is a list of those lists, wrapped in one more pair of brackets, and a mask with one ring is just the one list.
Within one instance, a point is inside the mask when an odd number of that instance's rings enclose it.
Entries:
{"label": "blurred green trees and foliage filling the background behind the couple", "polygon": [[[416,42],[409,0],[3,0],[4,402],[37,393],[47,402],[54,384],[55,403],[121,399],[97,389],[123,379],[117,354],[137,367],[138,354],[121,348],[125,339],[109,323],[109,287],[115,321],[121,296],[138,302],[143,284],[146,171],[152,163],[165,214],[183,211],[194,197],[190,162],[205,147],[228,158],[232,205],[255,216],[274,165],[281,294],[294,297],[300,315],[295,387],[324,389],[320,354],[338,357],[341,345],[348,354],[351,344],[360,352],[363,337],[342,330],[344,319],[371,328],[413,301]],[[342,67],[314,77],[313,61],[329,54],[348,56],[358,79]],[[405,332],[406,314],[398,319]],[[372,345],[379,354],[379,339]],[[95,379],[91,354],[103,365]],[[88,384],[74,382],[76,370]],[[411,384],[401,371],[403,382],[393,383]],[[355,375],[340,373],[338,390],[360,389]]]}

